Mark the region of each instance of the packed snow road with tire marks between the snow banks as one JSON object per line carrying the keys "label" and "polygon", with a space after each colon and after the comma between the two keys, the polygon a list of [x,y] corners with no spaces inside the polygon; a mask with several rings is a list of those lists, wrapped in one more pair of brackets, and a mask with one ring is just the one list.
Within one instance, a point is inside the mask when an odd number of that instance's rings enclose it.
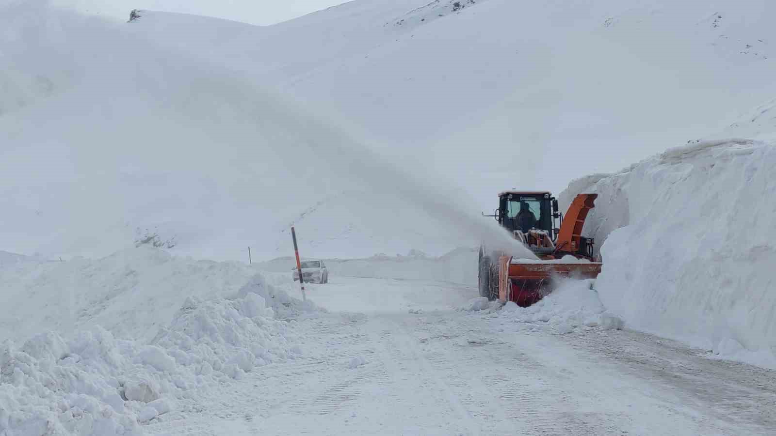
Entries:
{"label": "packed snow road with tire marks between the snow banks", "polygon": [[[474,289],[331,277],[303,357],[159,417],[150,434],[773,434],[774,373],[629,330],[456,307]],[[344,311],[343,311],[344,310]]]}

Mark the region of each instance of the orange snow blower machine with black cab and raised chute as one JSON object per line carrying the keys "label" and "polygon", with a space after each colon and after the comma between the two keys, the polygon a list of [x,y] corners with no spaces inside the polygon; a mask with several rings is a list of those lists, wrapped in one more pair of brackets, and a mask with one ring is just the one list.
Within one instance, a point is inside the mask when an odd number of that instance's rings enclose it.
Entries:
{"label": "orange snow blower machine with black cab and raised chute", "polygon": [[[480,296],[514,301],[527,307],[552,292],[558,279],[595,279],[601,262],[594,258],[594,240],[583,237],[587,213],[597,194],[580,194],[566,215],[549,192],[506,191],[498,195],[494,216],[501,227],[528,247],[539,260],[513,259],[480,247]],[[483,214],[484,215],[484,214]],[[560,228],[556,227],[560,220]]]}

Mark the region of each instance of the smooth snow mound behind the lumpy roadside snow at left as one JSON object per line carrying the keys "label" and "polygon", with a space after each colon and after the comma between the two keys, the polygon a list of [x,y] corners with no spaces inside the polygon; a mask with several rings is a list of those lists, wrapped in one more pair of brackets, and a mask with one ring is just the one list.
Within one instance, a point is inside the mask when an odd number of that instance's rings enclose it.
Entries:
{"label": "smooth snow mound behind the lumpy roadside snow at left", "polygon": [[[0,341],[25,341],[43,330],[68,336],[99,324],[119,338],[151,340],[185,299],[251,292],[268,301],[271,287],[257,270],[235,261],[173,256],[153,247],[129,248],[100,259],[0,262]],[[274,308],[274,306],[273,306]]]}

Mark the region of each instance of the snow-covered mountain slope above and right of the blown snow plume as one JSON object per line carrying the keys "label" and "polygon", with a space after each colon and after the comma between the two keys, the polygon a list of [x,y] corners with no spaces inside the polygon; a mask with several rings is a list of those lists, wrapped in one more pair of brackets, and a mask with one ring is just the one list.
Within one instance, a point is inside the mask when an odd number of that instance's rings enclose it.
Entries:
{"label": "snow-covered mountain slope above and right of the blown snow plume", "polygon": [[622,168],[760,104],[776,91],[774,13],[759,0],[362,0],[191,45],[170,35],[196,32],[182,16],[148,12],[133,29],[334,106],[389,152],[422,147],[431,168],[486,177],[462,184],[486,207],[504,185],[559,189],[558,174]]}

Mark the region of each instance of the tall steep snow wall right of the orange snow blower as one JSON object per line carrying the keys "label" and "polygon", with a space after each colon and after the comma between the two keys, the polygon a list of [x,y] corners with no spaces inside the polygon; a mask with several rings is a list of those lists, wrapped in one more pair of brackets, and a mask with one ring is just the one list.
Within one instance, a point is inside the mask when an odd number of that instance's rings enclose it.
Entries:
{"label": "tall steep snow wall right of the orange snow blower", "polygon": [[601,244],[601,302],[628,327],[776,367],[776,147],[717,140],[614,175],[570,183],[598,193],[585,234]]}

